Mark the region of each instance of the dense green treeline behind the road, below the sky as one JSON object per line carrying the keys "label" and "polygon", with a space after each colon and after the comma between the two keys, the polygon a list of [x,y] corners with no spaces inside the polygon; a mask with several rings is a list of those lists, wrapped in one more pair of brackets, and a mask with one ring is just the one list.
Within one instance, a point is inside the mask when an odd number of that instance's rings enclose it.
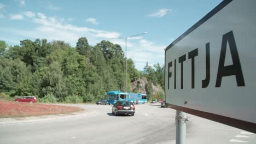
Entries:
{"label": "dense green treeline behind the road, below the sky", "polygon": [[[128,89],[139,77],[164,86],[163,66],[135,69],[127,59]],[[91,102],[108,91],[125,91],[125,57],[120,45],[101,41],[90,46],[79,38],[76,47],[64,41],[21,40],[8,46],[0,41],[0,93],[33,95],[45,102]],[[152,89],[151,89],[152,90]],[[148,92],[151,91],[149,89]]]}

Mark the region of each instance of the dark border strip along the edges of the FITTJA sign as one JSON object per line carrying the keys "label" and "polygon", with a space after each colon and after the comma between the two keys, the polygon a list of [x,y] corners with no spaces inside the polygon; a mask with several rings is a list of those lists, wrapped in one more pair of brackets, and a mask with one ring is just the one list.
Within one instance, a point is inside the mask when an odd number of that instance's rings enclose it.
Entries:
{"label": "dark border strip along the edges of the FITTJA sign", "polygon": [[[197,27],[201,26],[202,23],[206,22],[213,15],[217,14],[218,11],[222,10],[230,2],[232,2],[232,0],[224,0],[223,2],[218,4],[217,7],[215,7],[212,11],[210,11],[210,13],[208,13],[206,16],[204,16],[200,21],[196,22],[195,25],[193,25],[191,28],[188,29],[188,31],[184,32],[180,37],[178,37],[176,40],[174,40],[173,43],[171,43],[170,45],[168,45],[166,47],[166,49],[165,49],[165,68],[166,68],[166,51],[168,49],[170,49],[172,46],[174,46],[175,44],[177,44],[180,40],[185,38],[189,33],[193,32]],[[166,99],[166,92],[165,92],[165,99]],[[243,129],[243,130],[251,131],[252,133],[256,134],[256,124],[255,123],[241,121],[240,119],[225,117],[225,116],[217,115],[217,114],[214,114],[214,113],[189,109],[187,107],[172,105],[172,104],[168,104],[168,103],[166,103],[166,106],[170,107],[172,109],[175,109],[175,110],[180,110],[180,111],[190,113],[190,114],[195,115],[195,116],[199,116],[199,117],[202,117],[202,118],[210,119],[212,121],[216,121],[216,122],[219,122],[219,123],[230,125],[231,127],[236,127],[236,128],[240,128],[240,129]]]}

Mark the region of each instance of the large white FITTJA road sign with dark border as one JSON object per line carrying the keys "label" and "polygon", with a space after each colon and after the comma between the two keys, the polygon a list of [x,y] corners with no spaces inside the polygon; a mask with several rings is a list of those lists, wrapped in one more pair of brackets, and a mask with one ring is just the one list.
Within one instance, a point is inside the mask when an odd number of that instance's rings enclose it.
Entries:
{"label": "large white FITTJA road sign with dark border", "polygon": [[168,107],[256,133],[256,1],[223,1],[165,49]]}

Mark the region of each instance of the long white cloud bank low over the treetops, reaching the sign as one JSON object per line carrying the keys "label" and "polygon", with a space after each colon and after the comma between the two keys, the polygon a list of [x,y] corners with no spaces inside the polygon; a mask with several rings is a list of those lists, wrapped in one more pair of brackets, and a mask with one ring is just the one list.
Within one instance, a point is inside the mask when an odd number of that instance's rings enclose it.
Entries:
{"label": "long white cloud bank low over the treetops, reaching the sign", "polygon": [[[28,19],[31,19],[30,21],[37,26],[28,30],[5,28],[4,31],[22,35],[26,39],[64,40],[71,46],[75,46],[80,37],[86,37],[90,45],[96,45],[101,40],[108,40],[114,44],[119,44],[125,52],[125,39],[109,39],[122,37],[123,35],[118,32],[74,26],[68,24],[68,20],[60,17],[48,17],[43,13],[37,13],[34,17],[28,17]],[[3,30],[0,28],[0,31]],[[133,59],[138,70],[143,70],[146,62],[152,66],[158,62],[160,64],[164,63],[165,48],[166,46],[155,44],[152,41],[143,39],[142,36],[127,39],[127,57]]]}

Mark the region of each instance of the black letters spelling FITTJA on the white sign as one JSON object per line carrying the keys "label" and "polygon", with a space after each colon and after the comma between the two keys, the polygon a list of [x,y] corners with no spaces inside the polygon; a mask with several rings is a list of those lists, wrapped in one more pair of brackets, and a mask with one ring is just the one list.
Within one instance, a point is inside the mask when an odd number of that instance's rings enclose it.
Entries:
{"label": "black letters spelling FITTJA on the white sign", "polygon": [[[232,64],[224,66],[225,62],[225,56],[226,56],[226,49],[228,47],[230,48],[231,52],[231,58],[232,58]],[[206,49],[206,77],[202,80],[202,88],[208,87],[210,83],[210,43],[207,43],[205,45]],[[199,55],[198,48],[188,52],[188,59],[191,61],[191,88],[195,88],[195,58]],[[183,55],[179,57],[178,59],[174,59],[174,61],[171,61],[168,63],[168,89],[170,89],[170,78],[172,77],[172,72],[170,69],[174,69],[173,75],[174,75],[174,84],[173,88],[176,89],[176,69],[177,65],[179,64],[181,66],[181,89],[183,89],[183,62],[187,61],[188,59],[187,55]],[[236,77],[236,83],[238,87],[245,86],[245,80],[243,79],[243,73],[241,68],[240,59],[237,52],[237,47],[235,43],[234,34],[232,31],[226,33],[222,37],[222,45],[220,49],[220,57],[219,57],[219,65],[218,65],[218,72],[216,76],[216,84],[215,87],[220,87],[222,83],[222,79],[225,76],[232,76],[235,75]]]}

